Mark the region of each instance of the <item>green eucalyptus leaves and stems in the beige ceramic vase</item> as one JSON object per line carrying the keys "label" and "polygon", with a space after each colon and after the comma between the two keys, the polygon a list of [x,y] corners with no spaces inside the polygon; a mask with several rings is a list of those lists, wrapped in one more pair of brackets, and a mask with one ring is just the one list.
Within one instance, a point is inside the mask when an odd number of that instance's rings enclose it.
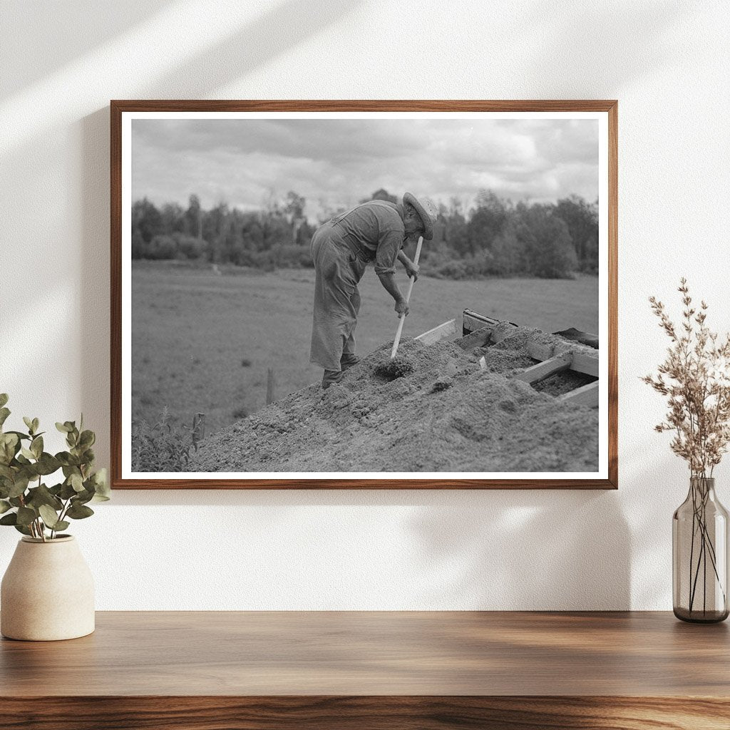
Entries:
{"label": "green eucalyptus leaves and stems in the beige ceramic vase", "polygon": [[[53,455],[44,450],[45,431],[39,431],[37,418],[23,417],[28,431],[3,431],[10,415],[7,400],[7,393],[0,393],[0,525],[45,542],[69,520],[91,517],[89,502],[110,498],[107,470],[93,471],[96,435],[83,429],[83,415],[78,426],[71,420],[55,424],[66,434],[68,450]],[[59,470],[63,481],[47,486],[44,477]]]}

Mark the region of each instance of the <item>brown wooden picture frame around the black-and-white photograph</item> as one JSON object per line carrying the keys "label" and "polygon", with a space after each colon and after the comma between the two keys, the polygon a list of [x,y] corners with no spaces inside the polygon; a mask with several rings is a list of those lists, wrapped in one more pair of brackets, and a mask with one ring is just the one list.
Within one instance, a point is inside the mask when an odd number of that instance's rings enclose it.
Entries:
{"label": "brown wooden picture frame around the black-and-white photograph", "polygon": [[[485,489],[485,488],[599,488],[618,486],[618,356],[617,356],[617,278],[618,278],[618,102],[615,100],[530,100],[530,101],[223,101],[158,100],[111,102],[111,444],[112,486],[115,489]],[[607,119],[607,478],[588,479],[235,479],[213,476],[193,478],[128,478],[122,474],[122,192],[123,192],[123,115],[131,112],[601,112]],[[547,359],[547,358],[545,358]],[[552,367],[550,364],[545,367]],[[572,364],[575,368],[575,363]],[[584,397],[578,396],[575,397]]]}

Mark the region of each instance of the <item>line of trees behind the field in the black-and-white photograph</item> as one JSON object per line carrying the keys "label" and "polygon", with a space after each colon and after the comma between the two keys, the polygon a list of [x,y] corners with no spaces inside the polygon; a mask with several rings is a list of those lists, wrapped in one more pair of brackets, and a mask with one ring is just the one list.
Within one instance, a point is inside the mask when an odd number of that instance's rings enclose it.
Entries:
{"label": "line of trees behind the field in the black-and-white photograph", "polygon": [[[380,189],[362,200],[396,197]],[[186,259],[272,271],[312,266],[316,228],[304,216],[306,200],[290,191],[261,210],[244,212],[220,203],[210,210],[191,195],[188,207],[132,205],[132,258]],[[421,253],[424,273],[450,279],[482,276],[569,277],[598,270],[598,204],[569,196],[554,204],[517,204],[488,190],[472,207],[458,199],[439,204],[434,239]],[[339,210],[320,215],[324,223]]]}

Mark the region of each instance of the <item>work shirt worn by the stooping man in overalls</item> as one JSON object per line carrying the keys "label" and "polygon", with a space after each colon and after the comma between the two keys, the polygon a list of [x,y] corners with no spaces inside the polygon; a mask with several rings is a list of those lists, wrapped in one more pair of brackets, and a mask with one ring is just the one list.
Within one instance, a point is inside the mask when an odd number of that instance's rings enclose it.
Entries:
{"label": "work shirt worn by the stooping man in overalls", "polygon": [[376,274],[394,274],[405,228],[399,207],[385,200],[370,200],[332,219],[350,247],[365,261],[375,262]]}

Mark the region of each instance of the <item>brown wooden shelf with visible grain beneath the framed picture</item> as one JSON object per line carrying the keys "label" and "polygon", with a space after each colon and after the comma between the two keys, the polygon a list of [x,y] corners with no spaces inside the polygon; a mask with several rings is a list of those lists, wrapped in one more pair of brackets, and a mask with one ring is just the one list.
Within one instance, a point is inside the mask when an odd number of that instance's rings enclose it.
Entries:
{"label": "brown wooden shelf with visible grain beneath the framed picture", "polygon": [[0,672],[3,728],[730,728],[727,624],[666,612],[99,612]]}

